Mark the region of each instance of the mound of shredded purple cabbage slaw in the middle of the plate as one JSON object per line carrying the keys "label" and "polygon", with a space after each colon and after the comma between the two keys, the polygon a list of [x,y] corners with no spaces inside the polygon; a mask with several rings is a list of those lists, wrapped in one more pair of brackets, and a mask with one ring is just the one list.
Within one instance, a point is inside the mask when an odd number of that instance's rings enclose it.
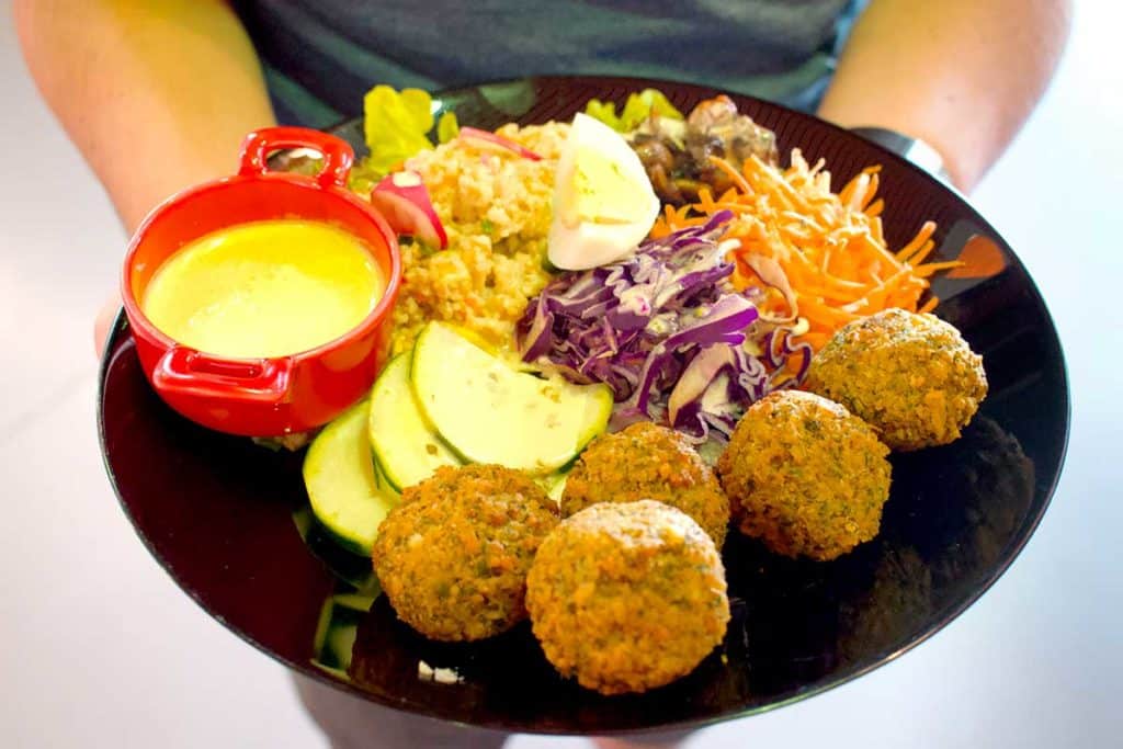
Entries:
{"label": "mound of shredded purple cabbage slaw in the middle of the plate", "polygon": [[[751,403],[802,383],[811,363],[810,346],[792,346],[791,328],[760,320],[758,290],[729,283],[733,264],[720,238],[731,218],[714,213],[628,259],[550,283],[518,323],[523,360],[608,384],[614,429],[650,419],[696,442],[727,441]],[[802,356],[794,377],[792,356]]]}

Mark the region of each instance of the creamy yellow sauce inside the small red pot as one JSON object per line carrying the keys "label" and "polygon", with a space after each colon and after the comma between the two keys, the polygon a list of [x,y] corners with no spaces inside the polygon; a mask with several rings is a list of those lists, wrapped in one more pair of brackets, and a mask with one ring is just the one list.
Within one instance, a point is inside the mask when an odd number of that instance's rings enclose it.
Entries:
{"label": "creamy yellow sauce inside the small red pot", "polygon": [[357,237],[327,223],[259,221],[172,255],[140,300],[162,332],[232,358],[286,356],[354,329],[385,290]]}

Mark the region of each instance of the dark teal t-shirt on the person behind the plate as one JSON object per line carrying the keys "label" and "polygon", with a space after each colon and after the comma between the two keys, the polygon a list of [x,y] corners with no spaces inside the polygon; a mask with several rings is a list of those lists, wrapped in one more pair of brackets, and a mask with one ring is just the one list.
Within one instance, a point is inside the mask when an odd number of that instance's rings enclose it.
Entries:
{"label": "dark teal t-shirt on the person behind the plate", "polygon": [[326,127],[372,85],[526,75],[702,83],[810,109],[859,0],[237,1],[282,122]]}

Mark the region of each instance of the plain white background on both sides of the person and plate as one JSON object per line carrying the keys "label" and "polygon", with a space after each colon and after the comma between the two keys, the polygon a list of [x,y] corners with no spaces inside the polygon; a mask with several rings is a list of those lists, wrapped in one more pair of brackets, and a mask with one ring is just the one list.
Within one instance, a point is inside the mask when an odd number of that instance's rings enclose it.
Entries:
{"label": "plain white background on both sides of the person and plate", "polygon": [[[1084,2],[973,200],[1029,266],[1072,389],[1068,463],[1011,570],[900,660],[691,747],[1121,746],[1123,30]],[[38,100],[0,0],[0,746],[322,747],[284,669],[148,557],[104,477],[91,320],[125,237]],[[138,168],[143,165],[138,164]],[[511,745],[585,747],[519,737]]]}

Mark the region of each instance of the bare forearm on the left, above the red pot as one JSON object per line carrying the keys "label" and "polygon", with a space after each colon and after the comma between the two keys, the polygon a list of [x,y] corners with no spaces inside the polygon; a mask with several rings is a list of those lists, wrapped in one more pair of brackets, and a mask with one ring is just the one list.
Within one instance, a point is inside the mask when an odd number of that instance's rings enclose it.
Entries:
{"label": "bare forearm on the left, above the red pot", "polygon": [[234,171],[273,122],[237,16],[204,0],[17,0],[28,67],[127,230],[170,194]]}

